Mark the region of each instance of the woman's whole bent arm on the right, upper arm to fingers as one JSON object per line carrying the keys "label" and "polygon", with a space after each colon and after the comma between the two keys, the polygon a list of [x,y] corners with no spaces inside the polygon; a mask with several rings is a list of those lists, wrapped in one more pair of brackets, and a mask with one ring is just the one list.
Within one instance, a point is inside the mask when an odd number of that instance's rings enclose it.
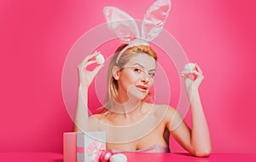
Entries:
{"label": "woman's whole bent arm on the right, upper arm to fingers", "polygon": [[[176,129],[172,130],[172,136],[190,153],[193,153],[195,156],[207,157],[212,152],[211,137],[198,91],[204,76],[200,67],[196,64],[195,69],[184,69],[181,74],[185,79],[185,86],[190,101],[191,129],[189,129],[178,114],[172,120],[172,125],[170,125],[172,128],[173,125],[176,125]],[[194,79],[191,78],[191,75],[193,75]],[[178,126],[177,123],[179,123]]]}

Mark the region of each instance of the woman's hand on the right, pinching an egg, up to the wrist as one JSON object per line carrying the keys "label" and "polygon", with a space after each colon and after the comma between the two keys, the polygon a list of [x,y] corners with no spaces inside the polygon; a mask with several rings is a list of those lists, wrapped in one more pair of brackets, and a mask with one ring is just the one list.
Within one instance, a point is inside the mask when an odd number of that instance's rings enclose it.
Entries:
{"label": "woman's hand on the right, pinching an egg, up to the wrist", "polygon": [[184,69],[181,76],[185,78],[185,86],[189,95],[192,95],[191,92],[198,90],[204,79],[201,68],[196,63],[194,69]]}

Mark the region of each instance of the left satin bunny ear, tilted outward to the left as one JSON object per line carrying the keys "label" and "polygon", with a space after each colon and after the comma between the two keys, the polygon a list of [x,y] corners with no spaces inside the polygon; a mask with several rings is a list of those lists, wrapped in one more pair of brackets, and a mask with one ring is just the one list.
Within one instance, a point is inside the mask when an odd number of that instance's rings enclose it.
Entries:
{"label": "left satin bunny ear, tilted outward to the left", "polygon": [[105,7],[103,12],[108,22],[108,28],[116,34],[122,43],[130,43],[136,38],[140,38],[137,23],[131,15],[115,7]]}

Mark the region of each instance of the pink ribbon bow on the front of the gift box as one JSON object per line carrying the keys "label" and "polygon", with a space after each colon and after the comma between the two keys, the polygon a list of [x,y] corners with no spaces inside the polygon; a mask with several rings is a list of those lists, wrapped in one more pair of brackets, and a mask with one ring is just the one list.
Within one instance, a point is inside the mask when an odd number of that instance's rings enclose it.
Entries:
{"label": "pink ribbon bow on the front of the gift box", "polygon": [[103,144],[94,140],[93,142],[90,142],[89,146],[86,148],[86,153],[88,153],[91,161],[98,162],[103,150]]}

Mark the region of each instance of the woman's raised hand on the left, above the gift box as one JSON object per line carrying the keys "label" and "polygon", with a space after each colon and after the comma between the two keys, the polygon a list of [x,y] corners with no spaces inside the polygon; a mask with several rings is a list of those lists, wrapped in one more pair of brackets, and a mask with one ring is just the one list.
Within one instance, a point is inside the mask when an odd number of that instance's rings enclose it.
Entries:
{"label": "woman's raised hand on the left, above the gift box", "polygon": [[88,55],[85,57],[84,61],[82,61],[78,65],[79,69],[79,85],[89,87],[92,83],[93,79],[96,76],[96,73],[100,71],[100,69],[103,67],[103,65],[97,65],[92,71],[89,71],[86,69],[86,67],[90,66],[93,63],[96,63],[96,60],[91,60],[95,58],[97,55],[99,55],[100,52],[95,51],[93,54]]}

